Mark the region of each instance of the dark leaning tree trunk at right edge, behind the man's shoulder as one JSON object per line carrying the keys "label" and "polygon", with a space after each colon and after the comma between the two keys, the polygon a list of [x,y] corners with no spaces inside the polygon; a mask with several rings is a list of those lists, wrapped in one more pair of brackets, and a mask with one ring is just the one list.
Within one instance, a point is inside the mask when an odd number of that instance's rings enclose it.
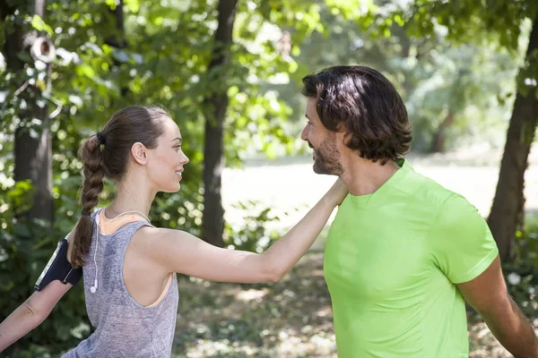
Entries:
{"label": "dark leaning tree trunk at right edge, behind the man's shoulder", "polygon": [[[525,58],[535,71],[538,69],[536,55],[533,56],[536,50],[538,50],[538,18],[534,19]],[[534,79],[537,77],[534,75]],[[518,91],[500,162],[499,183],[488,218],[491,233],[499,246],[501,260],[514,259],[516,230],[523,224],[525,169],[534,141],[536,124],[538,124],[536,88],[530,87],[526,96]]]}

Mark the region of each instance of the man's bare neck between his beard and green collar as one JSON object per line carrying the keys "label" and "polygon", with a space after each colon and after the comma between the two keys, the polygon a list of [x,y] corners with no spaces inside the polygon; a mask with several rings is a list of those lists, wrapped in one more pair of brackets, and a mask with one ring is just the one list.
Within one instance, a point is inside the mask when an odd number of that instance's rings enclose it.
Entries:
{"label": "man's bare neck between his beard and green collar", "polygon": [[351,195],[367,195],[376,192],[400,167],[392,160],[384,166],[364,158],[352,158],[343,164],[343,180]]}

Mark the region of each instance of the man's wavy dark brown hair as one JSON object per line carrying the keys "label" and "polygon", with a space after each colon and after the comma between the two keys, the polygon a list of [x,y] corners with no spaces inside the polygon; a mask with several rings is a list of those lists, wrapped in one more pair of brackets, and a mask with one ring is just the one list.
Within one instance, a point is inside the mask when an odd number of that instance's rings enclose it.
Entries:
{"label": "man's wavy dark brown hair", "polygon": [[347,132],[346,145],[371,161],[397,161],[411,145],[404,101],[386,77],[366,66],[335,66],[302,79],[302,94],[317,98],[326,129]]}

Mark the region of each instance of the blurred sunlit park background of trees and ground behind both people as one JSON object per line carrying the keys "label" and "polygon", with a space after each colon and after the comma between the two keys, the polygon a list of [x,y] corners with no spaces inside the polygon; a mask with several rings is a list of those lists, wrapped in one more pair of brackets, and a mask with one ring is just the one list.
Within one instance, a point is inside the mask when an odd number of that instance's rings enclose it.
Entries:
{"label": "blurred sunlit park background of trees and ground behind both people", "polygon": [[[0,21],[0,320],[76,223],[77,149],[117,109],[165,107],[191,159],[152,223],[260,252],[334,181],[299,139],[300,79],[364,64],[404,98],[415,170],[487,218],[538,328],[535,0],[0,0]],[[276,284],[180,277],[172,355],[335,357],[325,236]],[[472,357],[509,356],[468,318]],[[56,357],[91,329],[79,285],[5,356]]]}

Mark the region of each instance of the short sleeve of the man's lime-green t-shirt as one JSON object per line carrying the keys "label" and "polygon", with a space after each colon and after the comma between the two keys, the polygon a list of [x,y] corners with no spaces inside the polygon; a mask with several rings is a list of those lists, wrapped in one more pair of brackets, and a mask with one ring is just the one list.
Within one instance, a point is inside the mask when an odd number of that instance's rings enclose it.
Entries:
{"label": "short sleeve of the man's lime-green t-shirt", "polygon": [[484,218],[458,194],[438,209],[430,234],[433,261],[455,284],[480,276],[499,253]]}

